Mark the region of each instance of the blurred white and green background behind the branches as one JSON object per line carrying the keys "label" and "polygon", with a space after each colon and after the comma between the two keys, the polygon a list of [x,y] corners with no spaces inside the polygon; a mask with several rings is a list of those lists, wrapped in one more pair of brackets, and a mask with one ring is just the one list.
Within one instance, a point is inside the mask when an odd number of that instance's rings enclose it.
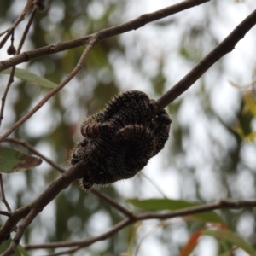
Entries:
{"label": "blurred white and green background behind the branches", "polygon": [[[26,1],[2,1],[0,32],[20,15]],[[23,50],[36,49],[80,38],[177,1],[52,0],[36,15]],[[143,90],[157,99],[195,67],[203,56],[224,39],[255,8],[254,0],[212,0],[177,15],[155,21],[132,32],[109,38],[90,52],[82,71],[13,134],[67,169],[69,155],[81,136],[79,125],[86,115],[103,108],[119,91]],[[27,19],[27,17],[26,17]],[[17,47],[26,20],[15,30]],[[6,47],[1,60],[9,58]],[[44,56],[19,67],[60,83],[75,67],[84,47]],[[125,207],[127,198],[166,196],[207,203],[219,199],[255,198],[256,145],[245,135],[256,130],[256,119],[245,109],[243,95],[256,78],[256,28],[229,55],[214,64],[188,91],[168,106],[172,131],[166,148],[149,161],[136,177],[99,188]],[[0,75],[1,97],[8,81]],[[241,88],[238,88],[239,85]],[[31,109],[48,90],[15,79],[9,91],[1,134]],[[253,93],[251,91],[251,93]],[[255,107],[256,108],[256,107]],[[13,147],[14,145],[12,145]],[[22,148],[24,151],[24,148]],[[3,174],[7,200],[12,209],[39,195],[56,177],[46,163],[28,172]],[[0,202],[1,209],[4,209]],[[256,246],[255,212],[224,210],[221,215],[233,230]],[[108,203],[72,185],[38,215],[22,240],[26,243],[76,241],[97,236],[123,218]],[[0,223],[5,220],[0,216]],[[74,255],[177,255],[200,224],[177,218],[156,228],[147,221],[125,228],[106,241],[96,242]],[[150,233],[150,230],[152,233]],[[133,241],[132,237],[136,234]],[[148,236],[146,236],[148,235]],[[145,239],[142,238],[146,236]],[[213,238],[201,239],[194,255],[218,255]],[[31,251],[31,255],[49,253]],[[148,253],[149,252],[149,253]],[[125,254],[123,254],[125,255]],[[247,255],[237,251],[234,255]]]}

